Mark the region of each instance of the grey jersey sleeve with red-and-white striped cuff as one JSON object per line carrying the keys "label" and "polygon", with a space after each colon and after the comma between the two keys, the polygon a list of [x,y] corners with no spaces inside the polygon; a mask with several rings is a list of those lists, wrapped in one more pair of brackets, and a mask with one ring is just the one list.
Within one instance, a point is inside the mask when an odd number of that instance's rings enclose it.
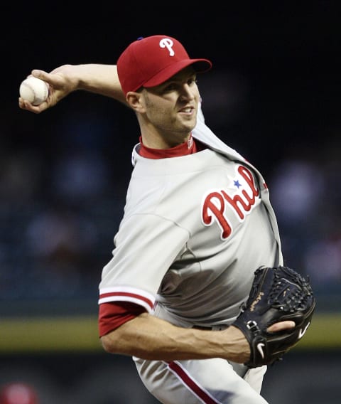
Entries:
{"label": "grey jersey sleeve with red-and-white striped cuff", "polygon": [[156,214],[135,214],[122,220],[112,260],[103,268],[99,304],[131,302],[147,312],[164,275],[188,240],[188,232]]}

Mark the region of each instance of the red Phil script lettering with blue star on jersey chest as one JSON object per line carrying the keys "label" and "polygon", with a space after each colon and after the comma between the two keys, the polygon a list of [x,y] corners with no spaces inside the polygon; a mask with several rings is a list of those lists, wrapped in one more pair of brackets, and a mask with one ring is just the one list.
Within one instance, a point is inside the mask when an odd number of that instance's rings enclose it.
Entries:
{"label": "red Phil script lettering with blue star on jersey chest", "polygon": [[232,208],[242,222],[256,203],[256,197],[259,196],[259,190],[256,188],[251,171],[244,166],[238,166],[237,173],[239,174],[238,179],[234,180],[237,192],[233,196],[227,195],[223,189],[212,191],[205,197],[202,204],[202,222],[207,226],[214,222],[218,223],[222,229],[222,240],[228,238],[232,233],[232,227],[225,216],[225,208],[227,206]]}

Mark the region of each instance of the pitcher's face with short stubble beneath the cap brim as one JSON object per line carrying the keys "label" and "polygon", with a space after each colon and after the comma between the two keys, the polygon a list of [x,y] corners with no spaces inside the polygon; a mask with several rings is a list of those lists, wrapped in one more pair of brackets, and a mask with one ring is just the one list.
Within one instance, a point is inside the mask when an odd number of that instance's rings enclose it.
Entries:
{"label": "pitcher's face with short stubble beneath the cap brim", "polygon": [[171,145],[188,139],[197,122],[200,99],[193,68],[185,68],[143,93],[146,118],[153,129]]}

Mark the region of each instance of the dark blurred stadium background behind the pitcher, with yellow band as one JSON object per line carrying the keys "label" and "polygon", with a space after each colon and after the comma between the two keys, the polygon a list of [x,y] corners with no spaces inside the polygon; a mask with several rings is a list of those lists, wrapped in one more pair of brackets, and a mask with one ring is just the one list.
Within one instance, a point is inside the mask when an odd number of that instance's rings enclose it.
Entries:
{"label": "dark blurred stadium background behind the pitcher, with yellow band", "polygon": [[156,403],[130,358],[104,353],[97,336],[97,287],[124,206],[135,119],[114,100],[81,92],[41,115],[17,100],[32,68],[116,63],[137,37],[166,33],[213,61],[198,78],[207,123],[263,172],[286,263],[310,276],[318,300],[303,341],[269,368],[264,396],[340,403],[337,1],[166,11],[150,2],[112,14],[76,4],[13,4],[12,28],[1,28],[0,389],[29,383],[39,404]]}

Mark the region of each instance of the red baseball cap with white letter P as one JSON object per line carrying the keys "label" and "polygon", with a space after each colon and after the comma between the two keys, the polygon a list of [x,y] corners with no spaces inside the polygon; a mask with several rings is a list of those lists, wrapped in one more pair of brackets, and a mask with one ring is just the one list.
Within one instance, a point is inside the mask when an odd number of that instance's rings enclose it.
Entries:
{"label": "red baseball cap with white letter P", "polygon": [[179,41],[154,35],[132,42],[117,60],[117,73],[124,94],[140,87],[154,87],[193,65],[197,73],[210,70],[207,59],[191,59]]}

